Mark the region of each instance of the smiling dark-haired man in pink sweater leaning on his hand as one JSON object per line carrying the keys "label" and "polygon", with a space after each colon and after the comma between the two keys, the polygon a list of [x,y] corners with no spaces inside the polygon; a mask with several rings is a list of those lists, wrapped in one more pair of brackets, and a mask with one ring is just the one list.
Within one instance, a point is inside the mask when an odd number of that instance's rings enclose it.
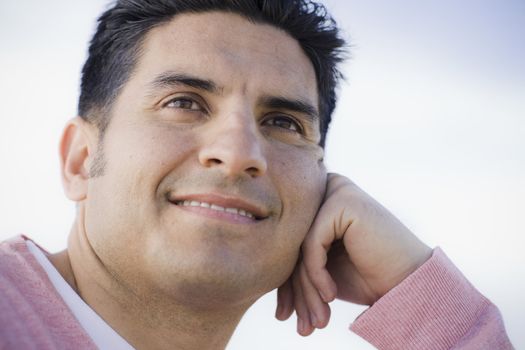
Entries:
{"label": "smiling dark-haired man in pink sweater leaning on his hand", "polygon": [[511,348],[443,252],[326,173],[343,46],[309,1],[103,14],[61,140],[68,249],[2,244],[2,348],[220,349],[275,288],[302,335],[337,297],[373,305],[378,348]]}

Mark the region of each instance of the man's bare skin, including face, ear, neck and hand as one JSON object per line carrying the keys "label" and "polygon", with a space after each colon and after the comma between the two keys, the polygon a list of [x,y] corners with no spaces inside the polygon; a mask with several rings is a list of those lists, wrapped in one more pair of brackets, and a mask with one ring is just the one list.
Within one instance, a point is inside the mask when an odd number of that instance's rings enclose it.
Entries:
{"label": "man's bare skin, including face, ear, neck and hand", "polygon": [[[66,125],[62,178],[78,212],[67,250],[50,258],[135,348],[224,348],[278,287],[276,316],[295,310],[307,335],[335,297],[371,304],[428,259],[385,208],[326,173],[315,72],[288,34],[184,14],[143,49],[102,140],[80,118]],[[92,177],[96,159],[104,171]]]}

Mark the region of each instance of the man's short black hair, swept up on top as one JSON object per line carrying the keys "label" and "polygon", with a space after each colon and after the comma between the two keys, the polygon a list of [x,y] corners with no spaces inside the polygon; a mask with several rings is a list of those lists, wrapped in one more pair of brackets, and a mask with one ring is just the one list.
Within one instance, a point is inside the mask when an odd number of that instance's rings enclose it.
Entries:
{"label": "man's short black hair, swept up on top", "polygon": [[109,111],[136,66],[146,34],[178,14],[210,11],[273,25],[299,42],[316,73],[324,147],[346,43],[326,8],[312,0],[117,0],[98,19],[82,69],[78,114],[103,135]]}

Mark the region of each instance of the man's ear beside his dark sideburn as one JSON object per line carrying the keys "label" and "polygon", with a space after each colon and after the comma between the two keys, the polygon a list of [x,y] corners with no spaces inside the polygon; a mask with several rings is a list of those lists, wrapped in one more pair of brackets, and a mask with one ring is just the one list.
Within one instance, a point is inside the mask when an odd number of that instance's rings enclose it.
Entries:
{"label": "man's ear beside his dark sideburn", "polygon": [[90,158],[98,145],[96,128],[80,117],[70,120],[60,139],[60,167],[66,196],[79,202],[87,197]]}

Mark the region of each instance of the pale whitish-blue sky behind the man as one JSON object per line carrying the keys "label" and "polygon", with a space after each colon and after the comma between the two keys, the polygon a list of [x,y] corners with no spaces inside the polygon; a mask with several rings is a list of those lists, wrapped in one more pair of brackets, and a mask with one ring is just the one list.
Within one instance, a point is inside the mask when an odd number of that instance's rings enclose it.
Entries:
{"label": "pale whitish-blue sky behind the man", "polygon": [[[348,176],[440,246],[500,309],[525,348],[525,2],[326,0],[349,40],[326,146]],[[107,1],[0,1],[0,240],[51,252],[75,215],[58,140]],[[348,331],[365,310],[336,302],[313,336],[273,319],[269,293],[228,349],[372,349]]]}

